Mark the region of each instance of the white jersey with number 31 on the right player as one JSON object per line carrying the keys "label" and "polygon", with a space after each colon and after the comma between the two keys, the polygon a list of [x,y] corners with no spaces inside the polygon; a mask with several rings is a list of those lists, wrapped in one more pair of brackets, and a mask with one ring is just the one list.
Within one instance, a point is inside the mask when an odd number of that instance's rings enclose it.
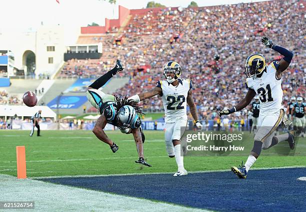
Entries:
{"label": "white jersey with number 31 on the right player", "polygon": [[260,100],[260,113],[276,112],[283,108],[281,78],[276,77],[276,68],[279,62],[274,61],[266,67],[261,77],[251,77],[246,79],[246,88],[252,89],[258,94]]}

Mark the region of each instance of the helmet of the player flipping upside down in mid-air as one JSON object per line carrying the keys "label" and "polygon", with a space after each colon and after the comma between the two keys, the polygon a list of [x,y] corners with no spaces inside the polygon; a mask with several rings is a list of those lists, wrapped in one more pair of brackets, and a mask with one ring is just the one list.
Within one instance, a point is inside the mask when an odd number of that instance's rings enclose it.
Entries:
{"label": "helmet of the player flipping upside down in mid-air", "polygon": [[140,118],[132,106],[124,105],[118,111],[117,123],[120,129],[136,129],[140,126]]}

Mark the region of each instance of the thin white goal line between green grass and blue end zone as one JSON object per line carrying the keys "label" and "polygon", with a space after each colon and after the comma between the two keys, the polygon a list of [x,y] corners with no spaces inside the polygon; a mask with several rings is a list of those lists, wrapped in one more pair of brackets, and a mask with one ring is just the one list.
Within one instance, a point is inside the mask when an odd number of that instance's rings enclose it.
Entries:
{"label": "thin white goal line between green grass and blue end zone", "polygon": [[[282,169],[282,168],[306,168],[306,166],[281,166],[281,167],[264,167],[264,168],[253,168],[251,170],[266,170],[266,169]],[[250,171],[251,171],[250,170]],[[188,171],[188,173],[210,173],[210,172],[225,172],[230,169],[219,169],[219,170],[205,170],[205,171]],[[127,176],[127,175],[146,175],[146,174],[173,174],[174,172],[149,172],[149,173],[126,173],[126,174],[93,174],[93,175],[63,175],[63,176],[43,176],[43,177],[30,177],[31,179],[41,178],[60,178],[60,177],[95,177],[95,176]],[[188,175],[187,175],[188,176]]]}

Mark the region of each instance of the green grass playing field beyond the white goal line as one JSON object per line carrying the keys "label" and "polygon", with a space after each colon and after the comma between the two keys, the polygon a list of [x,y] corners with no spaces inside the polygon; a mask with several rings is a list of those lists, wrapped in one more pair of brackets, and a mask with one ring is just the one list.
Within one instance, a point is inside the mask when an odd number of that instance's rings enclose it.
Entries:
{"label": "green grass playing field beyond the white goal line", "polygon": [[[134,163],[137,152],[132,135],[119,131],[106,132],[119,146],[116,153],[91,131],[42,131],[41,137],[35,136],[36,132],[33,137],[28,134],[29,131],[0,131],[0,174],[16,176],[15,147],[19,145],[25,146],[28,177],[176,171],[175,159],[165,151],[163,131],[145,131],[144,156],[152,167]],[[300,146],[304,148],[304,144]],[[247,156],[188,156],[184,165],[188,171],[229,170]],[[305,163],[306,156],[264,156],[262,151],[253,167],[305,166]]]}

